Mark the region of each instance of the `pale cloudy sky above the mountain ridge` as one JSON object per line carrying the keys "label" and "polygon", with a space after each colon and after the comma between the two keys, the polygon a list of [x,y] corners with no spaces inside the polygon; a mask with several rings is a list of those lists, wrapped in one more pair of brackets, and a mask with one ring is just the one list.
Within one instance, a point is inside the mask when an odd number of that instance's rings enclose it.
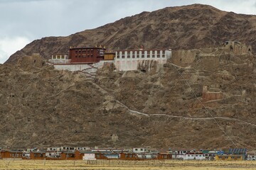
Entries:
{"label": "pale cloudy sky above the mountain ridge", "polygon": [[33,40],[67,36],[143,11],[189,4],[256,15],[256,0],[0,0],[0,64]]}

